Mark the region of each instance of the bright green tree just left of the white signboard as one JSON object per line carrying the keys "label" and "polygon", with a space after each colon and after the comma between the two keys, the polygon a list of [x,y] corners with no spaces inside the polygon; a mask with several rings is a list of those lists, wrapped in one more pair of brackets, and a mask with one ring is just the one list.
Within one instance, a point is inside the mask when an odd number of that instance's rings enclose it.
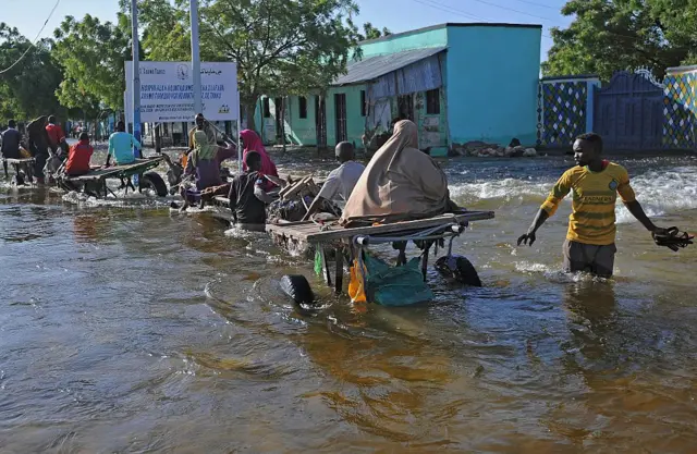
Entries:
{"label": "bright green tree just left of the white signboard", "polygon": [[53,33],[53,57],[65,78],[58,98],[64,106],[85,108],[98,102],[114,110],[123,108],[131,30],[125,15],[118,19],[119,23],[112,24],[89,14],[82,21],[66,16]]}

